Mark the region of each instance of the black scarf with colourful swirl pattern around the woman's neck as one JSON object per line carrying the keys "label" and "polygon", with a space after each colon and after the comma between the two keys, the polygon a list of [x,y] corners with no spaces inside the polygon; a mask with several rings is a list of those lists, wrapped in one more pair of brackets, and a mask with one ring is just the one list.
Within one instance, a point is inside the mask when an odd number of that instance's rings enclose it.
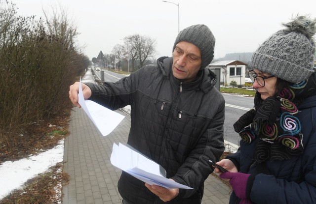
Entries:
{"label": "black scarf with colourful swirl pattern around the woman's neck", "polygon": [[247,144],[259,138],[255,148],[256,162],[284,160],[303,152],[303,134],[297,118],[298,105],[316,94],[316,73],[303,82],[283,87],[277,96],[262,100],[257,92],[255,108],[234,124],[241,140]]}

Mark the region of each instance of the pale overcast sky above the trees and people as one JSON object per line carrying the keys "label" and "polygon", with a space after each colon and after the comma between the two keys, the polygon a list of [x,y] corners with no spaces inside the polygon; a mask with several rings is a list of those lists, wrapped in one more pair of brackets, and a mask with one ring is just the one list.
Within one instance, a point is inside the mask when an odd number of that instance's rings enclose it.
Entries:
{"label": "pale overcast sky above the trees and people", "polygon": [[[179,3],[180,30],[205,24],[216,38],[215,58],[254,52],[296,14],[316,17],[316,0],[170,0]],[[178,6],[162,0],[12,0],[23,16],[43,16],[59,4],[79,28],[77,45],[90,59],[110,54],[123,38],[156,40],[156,58],[171,56],[178,34]]]}

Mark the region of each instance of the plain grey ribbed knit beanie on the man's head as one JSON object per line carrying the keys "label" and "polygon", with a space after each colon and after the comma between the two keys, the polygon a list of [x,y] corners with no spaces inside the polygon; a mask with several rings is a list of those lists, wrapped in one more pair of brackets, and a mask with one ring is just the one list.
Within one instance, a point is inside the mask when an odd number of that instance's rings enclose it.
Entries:
{"label": "plain grey ribbed knit beanie on the man's head", "polygon": [[215,37],[207,26],[199,24],[181,30],[174,42],[172,52],[181,41],[190,42],[199,48],[202,59],[201,69],[213,60]]}

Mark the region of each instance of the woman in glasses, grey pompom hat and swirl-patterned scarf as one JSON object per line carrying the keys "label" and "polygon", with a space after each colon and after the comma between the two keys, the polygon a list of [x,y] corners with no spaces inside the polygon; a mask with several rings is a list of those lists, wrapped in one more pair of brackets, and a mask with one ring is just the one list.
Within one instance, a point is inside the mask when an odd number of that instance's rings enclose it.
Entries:
{"label": "woman in glasses, grey pompom hat and swirl-patterned scarf", "polygon": [[234,124],[238,151],[217,162],[230,204],[316,203],[316,19],[283,26],[252,55],[255,108]]}

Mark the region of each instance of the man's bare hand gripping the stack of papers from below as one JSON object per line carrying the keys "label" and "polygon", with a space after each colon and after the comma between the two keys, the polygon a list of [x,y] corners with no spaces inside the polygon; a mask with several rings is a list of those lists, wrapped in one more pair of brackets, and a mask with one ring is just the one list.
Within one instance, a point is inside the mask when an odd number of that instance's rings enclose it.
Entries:
{"label": "man's bare hand gripping the stack of papers from below", "polygon": [[[170,179],[173,180],[173,179]],[[171,201],[179,194],[179,188],[166,189],[158,185],[149,185],[145,183],[145,186],[154,194],[156,194],[163,202]]]}

